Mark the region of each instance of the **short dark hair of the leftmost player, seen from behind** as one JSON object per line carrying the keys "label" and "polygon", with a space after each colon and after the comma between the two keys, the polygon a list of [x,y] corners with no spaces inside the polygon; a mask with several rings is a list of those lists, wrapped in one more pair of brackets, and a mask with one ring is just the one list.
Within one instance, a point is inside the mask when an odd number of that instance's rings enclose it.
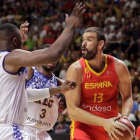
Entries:
{"label": "short dark hair of the leftmost player, seen from behind", "polygon": [[0,25],[0,39],[10,39],[12,37],[10,36],[10,33],[14,33],[17,29],[18,27],[11,23],[5,23]]}

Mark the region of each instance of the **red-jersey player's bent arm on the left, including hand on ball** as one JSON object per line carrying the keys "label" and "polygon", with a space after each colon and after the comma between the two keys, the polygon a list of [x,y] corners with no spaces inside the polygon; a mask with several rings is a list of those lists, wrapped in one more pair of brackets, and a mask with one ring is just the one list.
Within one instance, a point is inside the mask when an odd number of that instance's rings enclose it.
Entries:
{"label": "red-jersey player's bent arm on the left, including hand on ball", "polygon": [[71,80],[76,81],[77,83],[77,86],[74,90],[65,93],[69,117],[72,120],[80,121],[86,124],[103,126],[105,130],[114,137],[116,137],[114,132],[122,135],[122,133],[120,133],[117,130],[117,128],[122,130],[124,129],[121,126],[118,126],[114,123],[115,118],[104,119],[95,116],[79,107],[81,100],[81,84],[82,84],[82,69],[79,62],[75,62],[69,67],[66,79],[69,78]]}

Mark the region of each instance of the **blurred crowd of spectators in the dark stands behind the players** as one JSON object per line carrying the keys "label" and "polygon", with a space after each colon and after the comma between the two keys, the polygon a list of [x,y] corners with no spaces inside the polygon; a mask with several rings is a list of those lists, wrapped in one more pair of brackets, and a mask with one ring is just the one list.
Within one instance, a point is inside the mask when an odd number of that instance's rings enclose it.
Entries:
{"label": "blurred crowd of spectators in the dark stands behind the players", "polygon": [[[87,11],[75,31],[69,49],[58,61],[54,73],[65,79],[71,63],[81,57],[82,34],[91,26],[106,34],[104,53],[124,61],[132,81],[134,105],[129,116],[140,120],[140,1],[139,0],[0,0],[0,24],[10,22],[18,27],[28,21],[29,32],[23,49],[33,51],[43,44],[52,44],[65,28],[65,13],[70,14],[75,3],[84,2]],[[121,113],[121,96],[118,108]],[[54,133],[69,133],[70,119],[66,102],[60,101],[60,115]],[[62,125],[65,124],[65,125]]]}

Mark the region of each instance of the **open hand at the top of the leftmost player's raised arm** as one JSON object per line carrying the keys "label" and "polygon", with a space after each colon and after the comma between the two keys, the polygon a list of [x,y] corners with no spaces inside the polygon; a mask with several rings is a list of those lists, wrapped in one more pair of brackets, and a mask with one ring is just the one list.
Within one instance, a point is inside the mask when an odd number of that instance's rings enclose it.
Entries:
{"label": "open hand at the top of the leftmost player's raised arm", "polygon": [[86,5],[85,4],[76,4],[70,17],[68,17],[68,14],[65,14],[66,16],[66,24],[69,27],[72,27],[76,29],[82,22],[82,16],[86,11]]}

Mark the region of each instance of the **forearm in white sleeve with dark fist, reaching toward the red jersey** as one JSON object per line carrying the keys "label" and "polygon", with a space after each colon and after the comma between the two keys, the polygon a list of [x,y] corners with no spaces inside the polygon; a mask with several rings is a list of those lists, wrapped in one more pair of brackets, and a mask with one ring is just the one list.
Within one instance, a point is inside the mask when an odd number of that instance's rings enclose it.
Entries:
{"label": "forearm in white sleeve with dark fist, reaching toward the red jersey", "polygon": [[42,100],[50,96],[65,93],[68,90],[72,90],[76,87],[76,82],[72,80],[66,80],[61,86],[44,88],[44,89],[31,89],[27,88],[28,102],[33,102],[37,100]]}

